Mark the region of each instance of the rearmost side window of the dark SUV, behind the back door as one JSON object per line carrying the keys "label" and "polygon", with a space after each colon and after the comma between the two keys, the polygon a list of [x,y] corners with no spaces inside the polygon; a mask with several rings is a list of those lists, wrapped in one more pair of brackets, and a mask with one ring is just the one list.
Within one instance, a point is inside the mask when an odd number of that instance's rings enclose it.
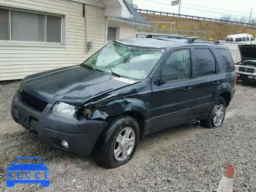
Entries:
{"label": "rearmost side window of the dark SUV, behind the back door", "polygon": [[235,70],[234,61],[230,53],[226,49],[216,49],[220,63],[224,66],[226,72],[232,72]]}

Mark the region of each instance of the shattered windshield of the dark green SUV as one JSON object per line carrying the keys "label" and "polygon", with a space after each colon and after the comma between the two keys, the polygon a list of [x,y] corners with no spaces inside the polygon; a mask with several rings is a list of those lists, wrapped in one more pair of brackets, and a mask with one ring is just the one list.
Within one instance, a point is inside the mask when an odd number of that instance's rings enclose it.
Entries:
{"label": "shattered windshield of the dark green SUV", "polygon": [[83,65],[119,76],[144,79],[164,54],[164,49],[133,47],[112,42]]}

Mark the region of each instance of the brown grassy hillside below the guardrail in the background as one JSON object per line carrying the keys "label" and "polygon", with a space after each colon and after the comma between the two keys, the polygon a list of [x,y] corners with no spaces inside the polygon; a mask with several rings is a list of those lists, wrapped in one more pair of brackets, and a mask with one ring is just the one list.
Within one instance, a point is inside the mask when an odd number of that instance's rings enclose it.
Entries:
{"label": "brown grassy hillside below the guardrail in the background", "polygon": [[[188,18],[178,18],[172,16],[161,16],[154,14],[141,13],[147,21],[174,22],[176,21],[176,30],[193,30],[208,32],[207,38],[225,40],[230,34],[247,33],[248,26],[225,24],[219,22],[202,21]],[[166,29],[168,26],[166,25]],[[249,34],[256,37],[256,27],[250,27]]]}

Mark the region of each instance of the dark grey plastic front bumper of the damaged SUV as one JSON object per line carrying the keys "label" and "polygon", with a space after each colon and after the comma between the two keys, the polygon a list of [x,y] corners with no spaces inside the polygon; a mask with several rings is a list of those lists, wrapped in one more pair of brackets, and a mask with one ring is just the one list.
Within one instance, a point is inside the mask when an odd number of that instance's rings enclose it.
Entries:
{"label": "dark grey plastic front bumper of the damaged SUV", "polygon": [[[41,112],[24,103],[20,91],[12,100],[11,115],[15,122],[36,133],[46,143],[72,152],[90,155],[106,122],[96,120],[72,120],[52,114],[52,105],[47,104]],[[68,148],[62,146],[62,141]]]}

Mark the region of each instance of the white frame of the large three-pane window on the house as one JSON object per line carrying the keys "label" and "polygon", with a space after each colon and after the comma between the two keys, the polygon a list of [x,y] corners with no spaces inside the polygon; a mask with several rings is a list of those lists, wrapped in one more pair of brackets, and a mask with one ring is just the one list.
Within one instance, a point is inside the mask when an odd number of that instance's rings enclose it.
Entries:
{"label": "white frame of the large three-pane window on the house", "polygon": [[[64,17],[66,15],[47,13],[47,12],[38,12],[38,11],[33,11],[33,10],[10,8],[10,7],[3,7],[3,6],[0,6],[0,8],[9,10],[9,39],[10,39],[10,40],[0,40],[0,42],[6,42],[6,43],[10,43],[10,44],[12,44],[12,43],[24,43],[24,44],[56,44],[56,45],[63,45],[64,42],[66,42],[66,40],[64,39],[64,32],[66,32],[66,28],[64,28]],[[45,15],[45,23],[44,23],[45,24],[45,41],[44,42],[39,42],[39,41],[16,41],[16,40],[12,40],[12,36],[11,36],[11,10]],[[61,26],[60,26],[61,29],[60,29],[60,42],[59,43],[58,42],[46,42],[47,15],[61,17]]]}

